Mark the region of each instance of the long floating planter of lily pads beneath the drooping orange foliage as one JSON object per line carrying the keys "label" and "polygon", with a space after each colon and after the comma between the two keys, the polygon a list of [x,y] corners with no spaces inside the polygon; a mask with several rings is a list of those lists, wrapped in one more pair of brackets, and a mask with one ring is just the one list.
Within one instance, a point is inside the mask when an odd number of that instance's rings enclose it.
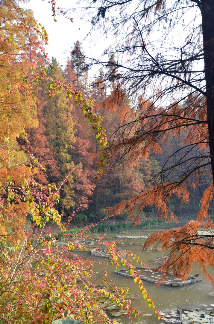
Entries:
{"label": "long floating planter of lily pads beneath the drooping orange foliage", "polygon": [[[140,278],[143,281],[148,281],[152,284],[156,284],[159,282],[163,276],[163,274],[159,271],[156,271],[154,268],[149,267],[137,267],[135,268],[137,273],[140,274]],[[129,270],[123,269],[123,270],[115,270],[117,274],[124,277],[131,278],[131,275],[129,274]],[[180,278],[175,278],[175,276],[172,273],[168,273],[166,277],[166,281],[163,283],[165,286],[172,286],[172,287],[182,287],[186,286],[188,284],[194,284],[197,282],[202,281],[202,279],[199,277],[194,276],[188,276],[187,280],[184,281]],[[161,283],[162,284],[162,283]]]}

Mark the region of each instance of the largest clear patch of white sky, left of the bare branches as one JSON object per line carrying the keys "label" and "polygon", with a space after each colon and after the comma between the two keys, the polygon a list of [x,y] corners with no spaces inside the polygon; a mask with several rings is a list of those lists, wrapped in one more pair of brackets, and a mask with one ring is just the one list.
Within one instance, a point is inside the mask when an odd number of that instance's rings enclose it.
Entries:
{"label": "largest clear patch of white sky, left of the bare branches", "polygon": [[[62,8],[70,8],[72,5],[75,5],[75,0],[56,0],[56,4]],[[60,65],[65,65],[66,58],[69,56],[68,53],[77,40],[82,42],[84,53],[87,56],[91,56],[92,53],[93,57],[95,56],[94,53],[98,56],[98,54],[104,51],[104,37],[101,37],[99,31],[93,32],[92,38],[88,37],[85,39],[91,29],[91,24],[90,22],[80,20],[78,15],[74,13],[69,14],[73,18],[73,23],[69,19],[59,16],[57,16],[57,22],[54,22],[51,5],[48,4],[48,0],[30,0],[23,7],[33,10],[34,17],[45,27],[49,38],[46,51],[49,58],[52,56],[56,57]]]}

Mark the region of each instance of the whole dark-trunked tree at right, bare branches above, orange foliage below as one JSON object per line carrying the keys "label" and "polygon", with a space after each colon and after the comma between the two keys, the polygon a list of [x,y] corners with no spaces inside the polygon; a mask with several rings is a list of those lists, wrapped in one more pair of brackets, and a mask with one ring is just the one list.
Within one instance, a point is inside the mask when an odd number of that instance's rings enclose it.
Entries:
{"label": "whole dark-trunked tree at right, bare branches above, orange foliage below", "polygon": [[[109,153],[120,149],[120,161],[127,161],[127,158],[146,156],[151,151],[162,153],[160,143],[170,135],[183,142],[182,150],[175,148],[172,152],[175,163],[163,166],[161,181],[127,203],[130,210],[139,203],[134,223],[139,221],[140,210],[148,204],[155,204],[165,220],[175,219],[167,205],[170,197],[177,195],[188,203],[188,179],[193,177],[197,186],[204,174],[209,183],[200,201],[198,218],[189,223],[191,226],[181,228],[178,236],[169,233],[167,238],[176,237],[175,250],[163,269],[171,267],[178,273],[182,264],[188,272],[189,262],[175,262],[176,258],[183,258],[184,251],[192,251],[193,259],[199,264],[203,260],[204,268],[206,263],[213,265],[214,237],[201,237],[197,231],[201,226],[213,226],[209,201],[214,197],[214,2],[95,0],[87,14],[93,27],[103,26],[105,33],[123,28],[123,33],[114,33],[117,62],[111,65],[115,68],[118,91],[123,87],[124,92],[135,96],[135,110],[140,110],[140,115],[136,114],[131,122],[118,128],[120,139],[113,137]],[[189,17],[194,19],[189,21]],[[180,30],[179,36],[177,30]],[[112,47],[105,53],[112,51]],[[106,68],[105,84],[108,80],[111,82],[109,61],[96,59],[92,60],[94,63]],[[143,100],[139,104],[140,97]],[[194,151],[197,154],[189,156]],[[121,203],[114,211],[124,208],[126,203]],[[167,248],[170,244],[168,241]],[[209,261],[206,253],[210,255]]]}

